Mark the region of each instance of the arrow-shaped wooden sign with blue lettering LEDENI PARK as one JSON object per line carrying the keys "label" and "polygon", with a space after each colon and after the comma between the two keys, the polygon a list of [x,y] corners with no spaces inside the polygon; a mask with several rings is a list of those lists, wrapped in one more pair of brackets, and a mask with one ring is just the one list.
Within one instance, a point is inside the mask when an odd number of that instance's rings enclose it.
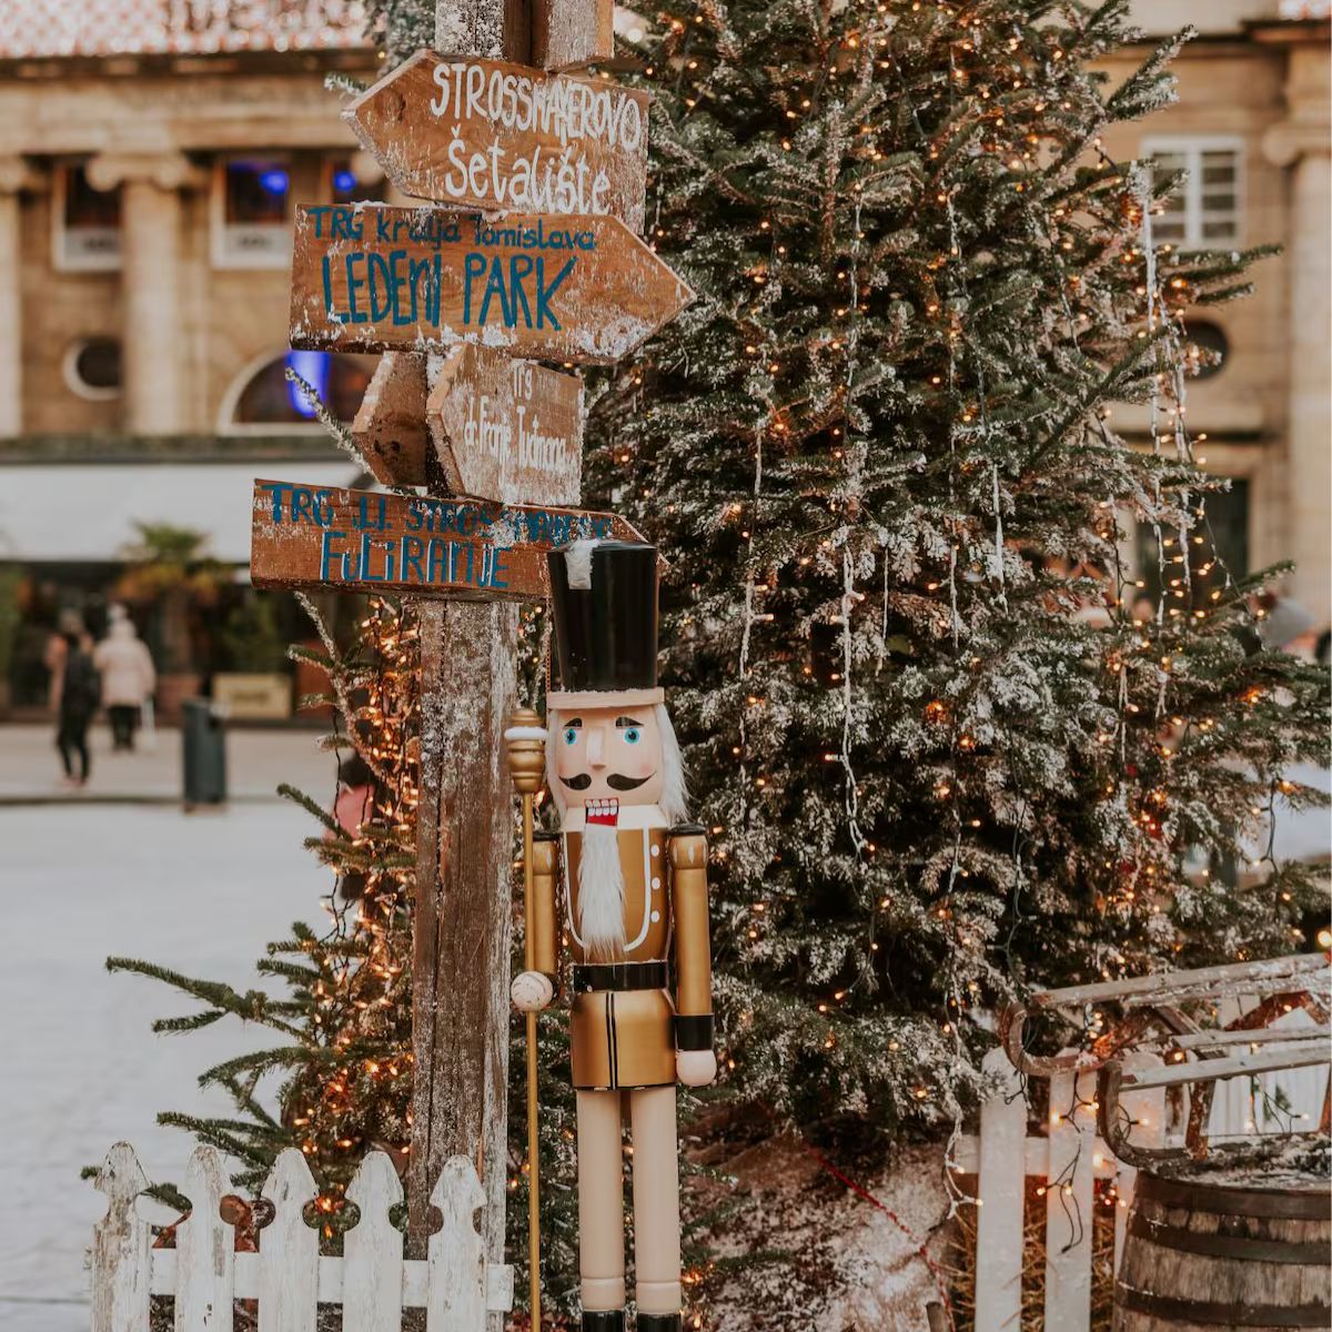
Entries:
{"label": "arrow-shaped wooden sign with blue lettering LEDENI PARK", "polygon": [[610,364],[693,298],[614,217],[493,221],[382,204],[296,210],[294,348],[484,342],[514,356]]}

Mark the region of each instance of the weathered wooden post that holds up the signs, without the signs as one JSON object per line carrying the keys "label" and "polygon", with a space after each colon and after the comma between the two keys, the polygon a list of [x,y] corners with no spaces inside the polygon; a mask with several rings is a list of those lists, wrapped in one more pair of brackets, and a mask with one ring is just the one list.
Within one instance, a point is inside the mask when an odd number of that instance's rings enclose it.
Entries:
{"label": "weathered wooden post that holds up the signs, without the signs", "polygon": [[[503,0],[437,0],[436,44],[503,55]],[[509,1134],[513,795],[503,729],[517,690],[518,607],[420,601],[408,1231],[424,1256],[430,1191],[450,1156],[485,1192],[482,1252],[503,1261]],[[503,1315],[486,1316],[502,1332]],[[480,1327],[477,1329],[480,1332]]]}

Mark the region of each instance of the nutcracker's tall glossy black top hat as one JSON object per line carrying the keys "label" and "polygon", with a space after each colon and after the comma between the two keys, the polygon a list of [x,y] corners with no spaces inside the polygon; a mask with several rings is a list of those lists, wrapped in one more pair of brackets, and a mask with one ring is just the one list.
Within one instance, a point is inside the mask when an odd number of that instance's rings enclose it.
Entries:
{"label": "nutcracker's tall glossy black top hat", "polygon": [[[579,695],[633,693],[657,703],[657,547],[575,541],[551,550],[558,691],[551,707],[595,706]],[[649,697],[650,695],[650,697]],[[630,699],[626,699],[630,702]]]}

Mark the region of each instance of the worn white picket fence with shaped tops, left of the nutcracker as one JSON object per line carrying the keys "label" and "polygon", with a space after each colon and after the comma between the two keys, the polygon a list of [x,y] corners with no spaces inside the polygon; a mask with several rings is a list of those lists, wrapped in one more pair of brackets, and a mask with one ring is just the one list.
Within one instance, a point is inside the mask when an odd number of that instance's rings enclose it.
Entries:
{"label": "worn white picket fence with shaped tops, left of the nutcracker", "polygon": [[445,1163],[430,1201],[444,1225],[425,1261],[402,1256],[402,1232],[389,1211],[402,1201],[393,1163],[372,1152],[346,1196],[360,1219],[344,1256],[320,1253],[320,1232],[305,1221],[317,1189],[305,1158],[284,1151],[264,1184],[272,1220],[257,1253],[237,1253],[221,1203],[234,1192],[212,1147],[189,1159],[181,1192],[190,1200],[176,1247],[153,1248],[152,1225],[136,1203],[148,1187],[135,1150],[117,1143],[97,1175],[107,1215],[93,1232],[92,1332],[148,1332],[149,1299],[174,1296],[176,1332],[232,1332],[233,1300],[258,1301],[258,1332],[314,1332],[316,1307],[340,1304],[344,1332],[400,1332],[404,1308],[425,1308],[428,1332],[478,1332],[486,1312],[513,1307],[513,1271],[488,1263],[473,1221],[485,1191],[472,1163]]}

